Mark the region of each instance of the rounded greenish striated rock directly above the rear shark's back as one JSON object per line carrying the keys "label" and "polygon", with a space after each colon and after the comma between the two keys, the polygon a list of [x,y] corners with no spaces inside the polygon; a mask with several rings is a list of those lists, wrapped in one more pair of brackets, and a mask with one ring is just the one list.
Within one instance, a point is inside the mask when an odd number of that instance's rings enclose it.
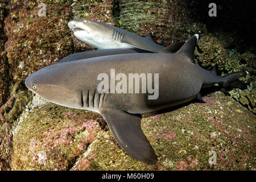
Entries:
{"label": "rounded greenish striated rock directly above the rear shark's back", "polygon": [[[156,42],[163,46],[189,37],[186,30],[192,20],[188,11],[183,9],[183,2],[133,0],[113,1],[113,5],[115,23],[120,28],[141,36],[153,32]],[[119,24],[119,21],[122,21],[122,24]],[[196,24],[193,27],[196,27]]]}

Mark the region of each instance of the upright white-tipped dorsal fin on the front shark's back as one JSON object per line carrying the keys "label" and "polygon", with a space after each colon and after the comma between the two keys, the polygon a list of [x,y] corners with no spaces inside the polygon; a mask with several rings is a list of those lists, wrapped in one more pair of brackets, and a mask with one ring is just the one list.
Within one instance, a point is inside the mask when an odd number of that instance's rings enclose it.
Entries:
{"label": "upright white-tipped dorsal fin on the front shark's back", "polygon": [[190,60],[192,63],[195,63],[194,52],[198,39],[199,34],[191,36],[191,38],[187,40],[187,42],[179,49],[179,51],[177,51],[177,53],[186,56],[188,60]]}

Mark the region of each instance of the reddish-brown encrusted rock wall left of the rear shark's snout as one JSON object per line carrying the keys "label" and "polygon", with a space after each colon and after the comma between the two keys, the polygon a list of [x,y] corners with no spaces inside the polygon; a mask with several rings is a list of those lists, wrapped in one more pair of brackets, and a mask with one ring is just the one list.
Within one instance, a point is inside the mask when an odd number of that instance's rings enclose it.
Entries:
{"label": "reddish-brown encrusted rock wall left of the rear shark's snout", "polygon": [[71,1],[61,3],[61,6],[57,6],[58,2],[48,5],[46,16],[38,16],[36,2],[28,2],[24,6],[9,3],[10,14],[5,19],[8,38],[5,49],[15,82],[24,81],[38,68],[54,64],[72,53],[72,39],[68,36],[67,26],[70,14],[63,10]]}

